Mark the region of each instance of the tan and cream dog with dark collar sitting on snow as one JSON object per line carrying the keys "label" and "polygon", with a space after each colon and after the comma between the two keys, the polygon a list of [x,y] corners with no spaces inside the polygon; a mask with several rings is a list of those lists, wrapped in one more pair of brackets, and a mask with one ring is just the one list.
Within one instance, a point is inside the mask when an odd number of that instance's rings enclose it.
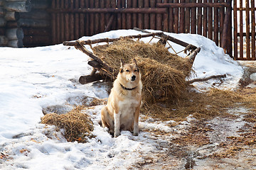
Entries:
{"label": "tan and cream dog with dark collar sitting on snow", "polygon": [[124,64],[114,80],[113,88],[107,100],[107,106],[101,110],[102,126],[110,130],[114,137],[120,130],[133,131],[139,135],[139,110],[142,105],[142,80],[137,61]]}

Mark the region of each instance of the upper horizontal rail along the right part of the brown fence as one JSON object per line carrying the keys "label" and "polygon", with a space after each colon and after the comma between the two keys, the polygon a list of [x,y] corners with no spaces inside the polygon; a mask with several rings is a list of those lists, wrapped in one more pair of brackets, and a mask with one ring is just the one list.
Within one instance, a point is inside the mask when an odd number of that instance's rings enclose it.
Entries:
{"label": "upper horizontal rail along the right part of the brown fence", "polygon": [[158,3],[156,4],[156,7],[159,8],[223,8],[230,6],[228,3]]}

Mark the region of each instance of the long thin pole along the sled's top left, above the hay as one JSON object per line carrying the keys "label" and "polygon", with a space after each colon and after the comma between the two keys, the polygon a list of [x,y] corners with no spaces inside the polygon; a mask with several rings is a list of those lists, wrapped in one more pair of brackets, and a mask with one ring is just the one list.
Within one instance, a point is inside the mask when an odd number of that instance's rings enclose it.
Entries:
{"label": "long thin pole along the sled's top left, above the hay", "polygon": [[163,34],[161,33],[149,33],[149,34],[144,34],[144,35],[128,35],[128,36],[124,36],[124,37],[120,37],[120,38],[102,38],[102,39],[97,39],[97,40],[85,40],[85,41],[64,41],[63,45],[65,46],[75,46],[75,45],[90,45],[90,44],[95,44],[95,43],[99,43],[99,42],[113,42],[116,40],[121,40],[122,38],[146,38],[146,37],[150,37],[150,36],[155,36],[155,35],[161,35]]}

